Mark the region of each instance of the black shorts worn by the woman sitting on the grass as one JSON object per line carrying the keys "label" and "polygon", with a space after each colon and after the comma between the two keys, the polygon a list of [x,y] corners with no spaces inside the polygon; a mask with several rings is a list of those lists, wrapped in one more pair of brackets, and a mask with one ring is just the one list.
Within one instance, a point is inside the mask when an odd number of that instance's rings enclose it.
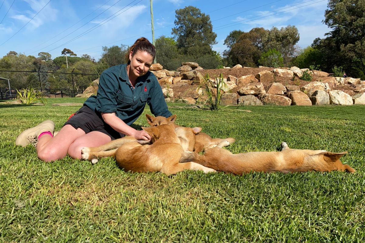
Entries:
{"label": "black shorts worn by the woman sitting on the grass", "polygon": [[107,134],[112,140],[122,137],[117,131],[104,122],[100,113],[97,114],[87,106],[82,106],[81,109],[64,124],[64,126],[67,124],[73,126],[75,129],[81,128],[85,133],[92,131],[102,132]]}

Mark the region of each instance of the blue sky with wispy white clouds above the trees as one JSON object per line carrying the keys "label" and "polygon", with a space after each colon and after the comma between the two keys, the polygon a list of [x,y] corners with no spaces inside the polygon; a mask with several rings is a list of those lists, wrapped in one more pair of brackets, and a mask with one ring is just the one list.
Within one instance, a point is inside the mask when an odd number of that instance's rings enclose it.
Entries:
{"label": "blue sky with wispy white clouds above the trees", "polygon": [[[97,60],[102,46],[131,45],[141,36],[152,41],[150,0],[0,0],[0,4],[0,57],[9,51],[34,56],[44,51],[55,58],[69,48],[77,56],[89,54]],[[172,37],[175,9],[188,5],[210,15],[218,42],[213,50],[221,53],[233,30],[296,26],[302,48],[330,31],[322,24],[327,0],[153,0],[155,38]]]}

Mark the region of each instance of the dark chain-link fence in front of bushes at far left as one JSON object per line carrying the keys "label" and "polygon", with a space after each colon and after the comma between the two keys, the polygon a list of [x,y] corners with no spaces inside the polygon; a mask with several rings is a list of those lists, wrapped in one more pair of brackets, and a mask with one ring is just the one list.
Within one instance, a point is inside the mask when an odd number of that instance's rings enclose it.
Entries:
{"label": "dark chain-link fence in front of bushes at far left", "polygon": [[92,70],[44,65],[11,65],[0,70],[0,98],[16,97],[16,89],[28,87],[38,89],[45,95],[55,97],[75,97],[82,93],[95,79]]}

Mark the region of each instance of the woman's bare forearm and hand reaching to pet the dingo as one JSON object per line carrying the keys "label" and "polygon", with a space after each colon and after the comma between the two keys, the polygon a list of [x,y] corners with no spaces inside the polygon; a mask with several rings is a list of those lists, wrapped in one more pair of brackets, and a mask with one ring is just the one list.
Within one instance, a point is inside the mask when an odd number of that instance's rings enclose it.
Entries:
{"label": "woman's bare forearm and hand reaching to pet the dingo", "polygon": [[101,113],[104,122],[110,125],[114,130],[127,136],[136,138],[137,140],[150,140],[151,136],[145,130],[138,131],[128,126],[122,119],[117,117],[115,113]]}

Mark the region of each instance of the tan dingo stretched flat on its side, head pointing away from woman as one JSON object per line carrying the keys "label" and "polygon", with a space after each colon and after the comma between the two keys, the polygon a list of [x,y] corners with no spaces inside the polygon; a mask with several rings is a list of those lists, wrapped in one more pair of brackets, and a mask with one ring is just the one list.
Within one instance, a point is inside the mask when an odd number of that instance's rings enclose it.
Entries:
{"label": "tan dingo stretched flat on its side, head pointing away from woman", "polygon": [[250,171],[263,172],[305,172],[305,171],[346,171],[354,173],[349,165],[341,163],[347,152],[331,153],[325,150],[291,149],[281,143],[280,152],[249,152],[232,154],[222,145],[207,149],[204,155],[185,152],[180,162],[194,161],[217,171],[241,175]]}

